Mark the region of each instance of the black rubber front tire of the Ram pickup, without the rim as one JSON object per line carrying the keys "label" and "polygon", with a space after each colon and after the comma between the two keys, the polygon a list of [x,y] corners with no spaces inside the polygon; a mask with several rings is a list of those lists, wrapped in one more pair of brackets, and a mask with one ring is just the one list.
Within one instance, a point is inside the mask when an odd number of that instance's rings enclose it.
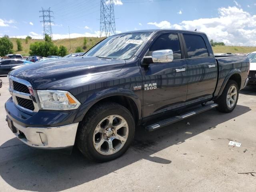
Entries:
{"label": "black rubber front tire of the Ram pickup, without the rim", "polygon": [[[101,120],[110,115],[120,115],[122,116],[128,124],[128,138],[122,148],[111,155],[100,154],[96,148],[94,148],[93,137],[94,130]],[[84,120],[80,122],[78,131],[76,134],[76,143],[78,149],[82,152],[84,156],[88,159],[96,162],[107,162],[120,157],[129,148],[135,132],[135,122],[130,111],[124,106],[114,103],[105,102],[96,104],[90,111],[86,114]]]}

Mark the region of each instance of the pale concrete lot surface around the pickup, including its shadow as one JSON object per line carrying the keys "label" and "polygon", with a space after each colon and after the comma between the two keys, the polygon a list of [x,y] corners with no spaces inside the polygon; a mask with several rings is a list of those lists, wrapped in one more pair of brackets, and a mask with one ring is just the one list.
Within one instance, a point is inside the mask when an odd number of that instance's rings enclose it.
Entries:
{"label": "pale concrete lot surface around the pickup, including its shadow", "polygon": [[[138,128],[121,158],[97,164],[33,149],[5,121],[8,80],[0,89],[0,191],[255,191],[256,88],[240,92],[230,114],[210,110],[154,132]],[[186,123],[190,122],[190,125]],[[229,146],[229,140],[242,143]]]}

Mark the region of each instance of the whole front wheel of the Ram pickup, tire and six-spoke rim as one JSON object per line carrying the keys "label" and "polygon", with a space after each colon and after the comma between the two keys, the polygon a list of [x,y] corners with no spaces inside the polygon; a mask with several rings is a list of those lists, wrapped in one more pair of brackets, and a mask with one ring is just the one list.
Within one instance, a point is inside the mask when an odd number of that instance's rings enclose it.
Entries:
{"label": "whole front wheel of the Ram pickup, tire and six-spoke rim", "polygon": [[134,119],[127,108],[114,102],[96,104],[78,129],[78,148],[93,161],[110,161],[126,152],[134,131]]}

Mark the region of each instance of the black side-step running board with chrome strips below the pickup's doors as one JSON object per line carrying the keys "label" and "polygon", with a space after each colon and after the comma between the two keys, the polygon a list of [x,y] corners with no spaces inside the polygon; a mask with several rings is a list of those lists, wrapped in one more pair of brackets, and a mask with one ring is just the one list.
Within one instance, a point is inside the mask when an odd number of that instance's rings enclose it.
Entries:
{"label": "black side-step running board with chrome strips below the pickup's doors", "polygon": [[145,129],[147,131],[154,131],[154,130],[157,130],[157,129],[162,128],[164,126],[167,126],[167,125],[170,125],[172,123],[175,123],[177,121],[180,121],[180,120],[186,119],[188,117],[194,116],[196,114],[205,112],[205,111],[210,110],[212,108],[215,108],[217,106],[218,106],[218,104],[216,104],[216,103],[209,104],[209,105],[206,105],[206,106],[202,106],[202,107],[196,108],[194,111],[190,111],[190,112],[188,112],[186,114],[182,114],[180,116],[174,116],[174,117],[171,117],[171,118],[168,118],[168,119],[161,120],[161,121],[159,121],[157,123],[148,125],[148,126],[145,127]]}

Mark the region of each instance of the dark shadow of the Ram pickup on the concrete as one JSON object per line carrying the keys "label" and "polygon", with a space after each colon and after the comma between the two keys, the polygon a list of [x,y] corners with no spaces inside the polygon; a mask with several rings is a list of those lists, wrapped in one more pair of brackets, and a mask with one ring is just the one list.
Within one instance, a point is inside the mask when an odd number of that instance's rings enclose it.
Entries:
{"label": "dark shadow of the Ram pickup on the concrete", "polygon": [[[229,114],[210,110],[200,114],[200,118],[194,116],[154,132],[137,128],[134,143],[126,154],[114,161],[101,164],[89,162],[77,149],[72,155],[64,155],[30,148],[13,138],[0,147],[0,176],[18,190],[51,192],[70,189],[107,174],[120,177],[119,169],[141,159],[170,164],[171,156],[170,159],[163,159],[154,153],[193,139],[193,136],[214,129],[218,124],[250,110],[249,107],[237,105]],[[186,122],[190,122],[190,125],[186,125]]]}

